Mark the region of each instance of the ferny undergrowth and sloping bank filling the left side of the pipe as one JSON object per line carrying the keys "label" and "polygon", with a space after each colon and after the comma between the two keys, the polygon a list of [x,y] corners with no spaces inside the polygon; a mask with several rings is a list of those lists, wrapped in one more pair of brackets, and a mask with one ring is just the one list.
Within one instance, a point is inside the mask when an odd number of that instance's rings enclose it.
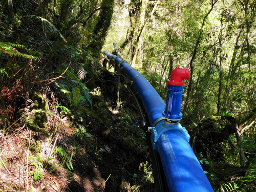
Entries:
{"label": "ferny undergrowth and sloping bank filling the left side of the pipe", "polygon": [[1,191],[152,190],[137,116],[115,110],[99,62],[113,2],[0,2]]}

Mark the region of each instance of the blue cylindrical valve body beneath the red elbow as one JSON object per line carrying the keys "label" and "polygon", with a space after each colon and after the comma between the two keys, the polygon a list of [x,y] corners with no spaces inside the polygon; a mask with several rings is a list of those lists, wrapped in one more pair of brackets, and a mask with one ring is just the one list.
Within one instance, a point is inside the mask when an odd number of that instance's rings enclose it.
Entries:
{"label": "blue cylindrical valve body beneath the red elbow", "polygon": [[182,119],[182,113],[180,112],[182,91],[184,91],[183,86],[169,86],[163,112],[165,119],[170,121],[179,121]]}

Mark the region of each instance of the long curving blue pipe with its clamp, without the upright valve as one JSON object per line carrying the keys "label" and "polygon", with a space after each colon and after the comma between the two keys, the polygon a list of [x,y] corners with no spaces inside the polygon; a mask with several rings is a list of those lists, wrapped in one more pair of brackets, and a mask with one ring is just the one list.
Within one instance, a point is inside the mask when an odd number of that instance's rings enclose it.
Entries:
{"label": "long curving blue pipe with its clamp, without the upright valve", "polygon": [[115,60],[133,81],[152,127],[152,144],[159,153],[169,191],[214,191],[190,147],[184,127],[162,118],[165,103],[152,85],[128,63],[104,52]]}

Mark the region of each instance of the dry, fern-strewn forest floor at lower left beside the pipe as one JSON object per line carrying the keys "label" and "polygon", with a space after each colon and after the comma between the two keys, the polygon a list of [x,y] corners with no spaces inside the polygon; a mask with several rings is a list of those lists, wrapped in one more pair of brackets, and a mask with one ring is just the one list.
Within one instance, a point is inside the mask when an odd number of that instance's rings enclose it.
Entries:
{"label": "dry, fern-strewn forest floor at lower left beside the pipe", "polygon": [[[122,108],[93,96],[86,129],[66,119],[48,135],[18,121],[0,132],[0,191],[154,191],[150,155],[135,102],[122,87]],[[130,100],[131,99],[131,100]],[[100,110],[99,110],[100,109]],[[50,136],[49,136],[50,134]]]}

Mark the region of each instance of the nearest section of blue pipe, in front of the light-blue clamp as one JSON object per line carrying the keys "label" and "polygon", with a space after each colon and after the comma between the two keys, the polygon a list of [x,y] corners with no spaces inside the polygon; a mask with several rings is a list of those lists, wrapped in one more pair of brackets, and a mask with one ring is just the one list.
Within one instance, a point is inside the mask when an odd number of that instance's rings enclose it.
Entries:
{"label": "nearest section of blue pipe, in front of the light-blue clamp", "polygon": [[184,134],[164,132],[157,141],[169,191],[214,191]]}

